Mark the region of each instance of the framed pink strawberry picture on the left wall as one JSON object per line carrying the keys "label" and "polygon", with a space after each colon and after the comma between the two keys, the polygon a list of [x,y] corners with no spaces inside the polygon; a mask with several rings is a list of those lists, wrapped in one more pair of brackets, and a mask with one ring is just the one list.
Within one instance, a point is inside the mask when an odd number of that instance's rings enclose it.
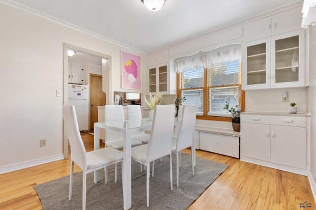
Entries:
{"label": "framed pink strawberry picture on the left wall", "polygon": [[141,90],[140,56],[122,51],[122,89]]}

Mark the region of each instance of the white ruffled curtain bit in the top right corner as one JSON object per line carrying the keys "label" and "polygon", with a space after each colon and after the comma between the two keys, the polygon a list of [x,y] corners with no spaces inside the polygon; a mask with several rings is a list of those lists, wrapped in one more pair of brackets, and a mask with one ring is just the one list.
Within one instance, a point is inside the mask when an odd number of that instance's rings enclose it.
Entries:
{"label": "white ruffled curtain bit in the top right corner", "polygon": [[316,25],[316,0],[304,0],[302,28]]}

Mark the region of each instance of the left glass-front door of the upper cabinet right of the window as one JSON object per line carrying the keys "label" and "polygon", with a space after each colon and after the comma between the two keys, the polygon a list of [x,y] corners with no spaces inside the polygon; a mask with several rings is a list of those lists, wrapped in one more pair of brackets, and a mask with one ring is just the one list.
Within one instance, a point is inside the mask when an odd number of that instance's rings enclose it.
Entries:
{"label": "left glass-front door of the upper cabinet right of the window", "polygon": [[270,39],[244,44],[242,89],[270,88]]}

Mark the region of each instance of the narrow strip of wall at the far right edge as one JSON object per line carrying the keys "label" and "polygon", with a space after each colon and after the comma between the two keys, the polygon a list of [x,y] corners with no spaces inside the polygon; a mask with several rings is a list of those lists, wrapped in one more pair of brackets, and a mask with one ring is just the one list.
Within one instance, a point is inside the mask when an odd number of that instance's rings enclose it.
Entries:
{"label": "narrow strip of wall at the far right edge", "polygon": [[307,88],[307,109],[311,109],[311,172],[316,180],[316,26],[310,28],[310,86]]}

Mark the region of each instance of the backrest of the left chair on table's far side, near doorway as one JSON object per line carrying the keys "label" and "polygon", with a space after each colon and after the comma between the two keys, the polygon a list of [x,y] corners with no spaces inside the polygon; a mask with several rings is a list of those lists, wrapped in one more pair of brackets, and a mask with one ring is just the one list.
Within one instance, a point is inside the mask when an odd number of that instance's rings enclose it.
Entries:
{"label": "backrest of the left chair on table's far side, near doorway", "polygon": [[[124,111],[122,105],[105,105],[104,121],[113,124],[121,124],[124,121]],[[117,131],[105,129],[105,142],[122,139],[123,134]]]}

